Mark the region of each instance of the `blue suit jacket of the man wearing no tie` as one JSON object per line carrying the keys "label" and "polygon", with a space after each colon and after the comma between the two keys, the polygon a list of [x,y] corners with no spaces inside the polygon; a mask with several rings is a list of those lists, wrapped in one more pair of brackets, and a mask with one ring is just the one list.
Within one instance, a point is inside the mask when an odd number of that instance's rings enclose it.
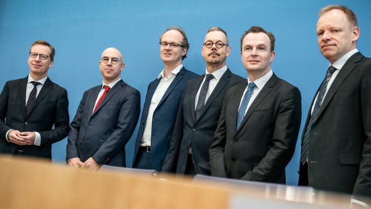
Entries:
{"label": "blue suit jacket of the man wearing no tie", "polygon": [[[152,169],[160,171],[163,160],[166,156],[172,131],[174,129],[176,113],[179,109],[181,96],[187,81],[198,76],[198,74],[186,70],[182,67],[176,74],[174,80],[163,94],[160,102],[154,110],[152,117],[152,132],[151,132],[151,165]],[[145,96],[143,113],[140,119],[139,131],[135,142],[135,151],[133,158],[133,165],[136,160],[136,154],[139,149],[140,140],[142,139],[145,122],[148,117],[148,109],[152,100],[154,91],[157,88],[161,78],[155,79],[149,83],[147,95]]]}

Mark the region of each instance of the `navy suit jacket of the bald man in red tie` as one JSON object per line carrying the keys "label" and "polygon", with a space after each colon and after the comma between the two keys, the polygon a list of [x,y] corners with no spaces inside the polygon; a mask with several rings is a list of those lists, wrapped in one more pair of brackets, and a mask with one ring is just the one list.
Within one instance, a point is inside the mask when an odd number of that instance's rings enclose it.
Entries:
{"label": "navy suit jacket of the bald man in red tie", "polygon": [[118,81],[93,113],[102,85],[84,92],[68,134],[67,157],[82,162],[92,157],[98,164],[125,164],[125,145],[129,141],[140,114],[140,93]]}

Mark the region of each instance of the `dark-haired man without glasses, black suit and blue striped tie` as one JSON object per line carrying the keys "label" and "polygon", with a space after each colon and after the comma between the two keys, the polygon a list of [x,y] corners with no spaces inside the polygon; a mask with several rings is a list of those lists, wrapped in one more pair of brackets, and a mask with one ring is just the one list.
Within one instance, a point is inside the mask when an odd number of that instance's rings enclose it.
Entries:
{"label": "dark-haired man without glasses, black suit and blue striped tie", "polygon": [[258,26],[241,37],[248,81],[230,88],[210,147],[213,176],[285,183],[301,121],[300,91],[270,63],[275,38]]}

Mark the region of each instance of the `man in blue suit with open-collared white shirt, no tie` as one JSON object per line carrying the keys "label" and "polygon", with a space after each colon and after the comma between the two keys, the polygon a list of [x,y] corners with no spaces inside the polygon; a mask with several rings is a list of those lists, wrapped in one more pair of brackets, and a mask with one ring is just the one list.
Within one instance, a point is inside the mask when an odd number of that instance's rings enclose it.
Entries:
{"label": "man in blue suit with open-collared white shirt, no tie", "polygon": [[168,150],[184,87],[197,76],[181,64],[190,47],[183,29],[167,28],[159,43],[164,69],[148,85],[133,158],[134,168],[158,171]]}

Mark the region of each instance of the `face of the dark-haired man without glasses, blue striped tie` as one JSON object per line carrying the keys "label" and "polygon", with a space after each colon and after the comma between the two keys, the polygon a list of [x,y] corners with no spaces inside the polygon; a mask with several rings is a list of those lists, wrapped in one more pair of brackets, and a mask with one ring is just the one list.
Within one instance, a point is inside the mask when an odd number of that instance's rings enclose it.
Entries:
{"label": "face of the dark-haired man without glasses, blue striped tie", "polygon": [[270,39],[265,33],[249,33],[242,41],[241,61],[245,69],[252,73],[265,74],[275,52],[270,51]]}

